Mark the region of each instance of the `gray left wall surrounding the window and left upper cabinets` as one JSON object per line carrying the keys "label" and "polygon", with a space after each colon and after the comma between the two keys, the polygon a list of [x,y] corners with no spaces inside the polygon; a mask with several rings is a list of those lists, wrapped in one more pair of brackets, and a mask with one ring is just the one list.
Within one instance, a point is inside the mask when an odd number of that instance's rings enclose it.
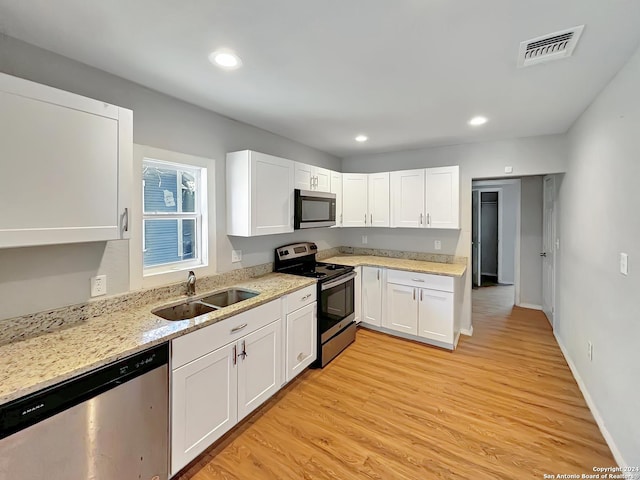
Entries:
{"label": "gray left wall surrounding the window and left upper cabinets", "polygon": [[[210,187],[215,188],[217,238],[211,257],[220,272],[237,268],[231,264],[232,249],[242,249],[242,265],[249,266],[271,261],[275,246],[309,238],[299,233],[252,239],[226,236],[227,152],[253,149],[340,169],[340,160],[324,152],[6,36],[0,36],[0,71],[130,108],[136,143],[213,159],[216,184]],[[314,232],[313,238],[321,248],[339,244],[334,231]],[[89,279],[96,273],[108,275],[109,294],[129,288],[127,241],[0,250],[0,319],[84,302]]]}

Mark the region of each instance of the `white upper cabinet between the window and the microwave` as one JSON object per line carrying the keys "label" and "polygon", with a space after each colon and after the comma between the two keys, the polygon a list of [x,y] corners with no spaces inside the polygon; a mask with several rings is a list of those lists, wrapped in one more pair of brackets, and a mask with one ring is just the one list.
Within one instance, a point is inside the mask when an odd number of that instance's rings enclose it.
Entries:
{"label": "white upper cabinet between the window and the microwave", "polygon": [[294,162],[243,150],[227,154],[227,235],[293,232]]}

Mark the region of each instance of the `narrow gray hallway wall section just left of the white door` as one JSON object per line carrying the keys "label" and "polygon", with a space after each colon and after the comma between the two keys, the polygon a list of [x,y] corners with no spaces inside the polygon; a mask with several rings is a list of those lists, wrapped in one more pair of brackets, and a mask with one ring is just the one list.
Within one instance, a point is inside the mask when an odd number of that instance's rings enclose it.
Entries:
{"label": "narrow gray hallway wall section just left of the white door", "polygon": [[525,177],[520,183],[520,301],[542,305],[542,178]]}

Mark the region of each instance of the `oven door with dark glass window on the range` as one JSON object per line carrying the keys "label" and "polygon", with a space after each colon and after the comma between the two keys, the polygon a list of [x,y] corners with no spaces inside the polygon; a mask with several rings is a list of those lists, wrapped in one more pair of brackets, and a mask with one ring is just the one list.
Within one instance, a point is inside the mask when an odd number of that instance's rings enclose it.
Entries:
{"label": "oven door with dark glass window on the range", "polygon": [[336,333],[353,323],[354,279],[356,272],[320,284],[318,303],[318,331],[320,343],[325,343]]}

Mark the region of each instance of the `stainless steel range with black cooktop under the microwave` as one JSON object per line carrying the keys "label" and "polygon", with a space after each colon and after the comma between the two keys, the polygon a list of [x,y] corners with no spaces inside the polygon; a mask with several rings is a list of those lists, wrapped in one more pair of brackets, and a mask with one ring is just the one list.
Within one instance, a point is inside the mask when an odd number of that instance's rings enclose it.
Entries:
{"label": "stainless steel range with black cooktop under the microwave", "polygon": [[315,243],[276,248],[274,270],[318,279],[318,359],[324,367],[356,338],[353,267],[316,261]]}

